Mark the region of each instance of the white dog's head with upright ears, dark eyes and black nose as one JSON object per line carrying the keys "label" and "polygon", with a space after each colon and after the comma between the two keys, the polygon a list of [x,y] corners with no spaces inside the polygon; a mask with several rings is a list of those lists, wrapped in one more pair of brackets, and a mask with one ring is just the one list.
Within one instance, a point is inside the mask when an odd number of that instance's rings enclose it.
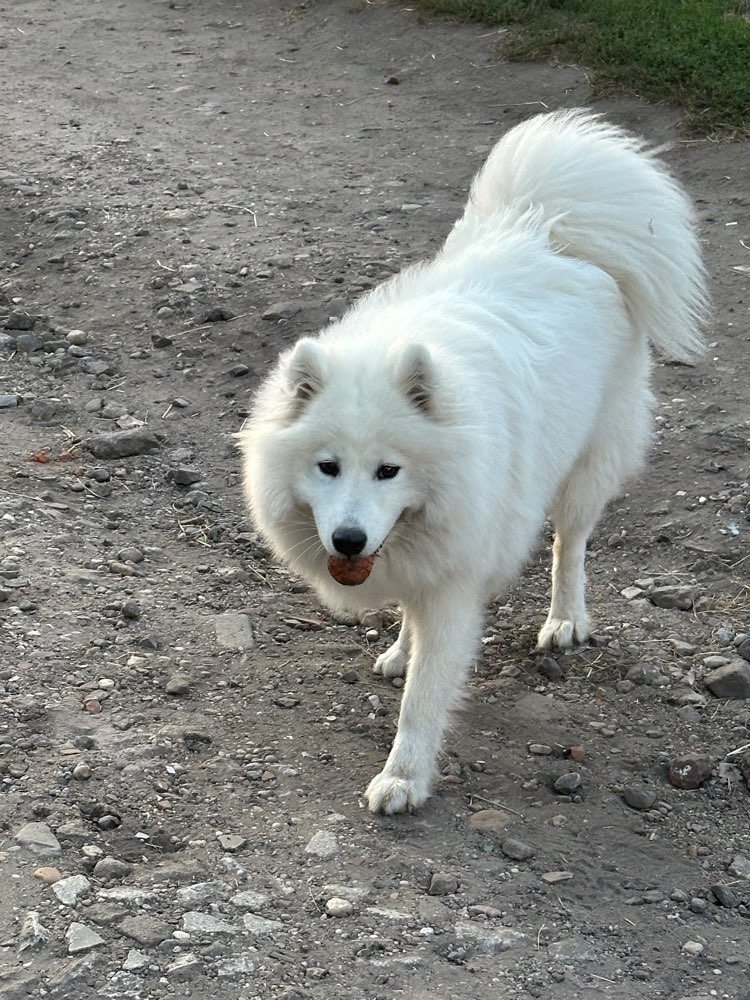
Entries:
{"label": "white dog's head with upright ears, dark eyes and black nose", "polygon": [[429,352],[408,344],[373,356],[356,339],[346,348],[303,339],[282,357],[278,388],[295,507],[309,509],[329,556],[374,555],[430,493]]}

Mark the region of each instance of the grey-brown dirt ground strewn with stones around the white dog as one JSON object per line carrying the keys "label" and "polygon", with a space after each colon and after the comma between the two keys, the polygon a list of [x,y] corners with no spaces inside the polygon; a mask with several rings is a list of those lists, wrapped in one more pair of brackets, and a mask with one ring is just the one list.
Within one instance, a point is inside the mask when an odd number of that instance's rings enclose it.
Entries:
{"label": "grey-brown dirt ground strewn with stones around the white dog", "polygon": [[384,819],[395,617],[334,621],[271,563],[232,434],[279,349],[431,254],[492,143],[587,104],[586,72],[357,0],[0,23],[0,998],[747,1000],[747,146],[596,103],[672,143],[710,349],[657,365],[593,643],[534,655],[540,545],[435,796]]}

